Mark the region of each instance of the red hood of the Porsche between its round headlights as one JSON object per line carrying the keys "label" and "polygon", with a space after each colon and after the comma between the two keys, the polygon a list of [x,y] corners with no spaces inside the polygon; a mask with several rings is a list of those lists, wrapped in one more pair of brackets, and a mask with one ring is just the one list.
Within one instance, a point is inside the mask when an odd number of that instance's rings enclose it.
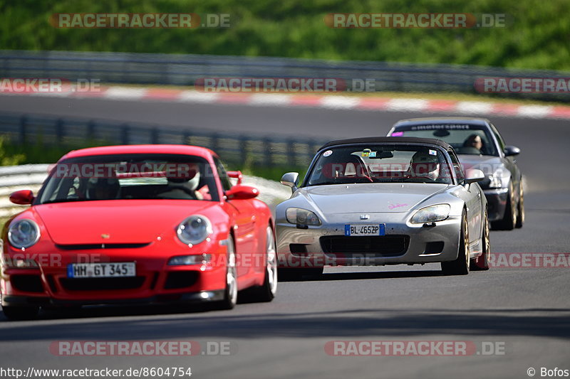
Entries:
{"label": "red hood of the Porsche between its round headlights", "polygon": [[53,242],[71,245],[152,242],[174,230],[188,216],[217,204],[192,200],[112,200],[43,204],[33,208]]}

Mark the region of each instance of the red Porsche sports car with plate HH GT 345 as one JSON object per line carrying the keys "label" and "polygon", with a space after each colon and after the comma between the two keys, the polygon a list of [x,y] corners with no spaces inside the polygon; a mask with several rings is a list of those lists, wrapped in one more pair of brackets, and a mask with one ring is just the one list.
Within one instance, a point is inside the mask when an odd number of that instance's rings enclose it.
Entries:
{"label": "red Porsche sports car with plate HH GT 345", "polygon": [[[238,178],[232,185],[230,177]],[[1,304],[9,319],[41,306],[271,301],[274,224],[256,188],[209,149],[105,146],[72,151],[4,225]]]}

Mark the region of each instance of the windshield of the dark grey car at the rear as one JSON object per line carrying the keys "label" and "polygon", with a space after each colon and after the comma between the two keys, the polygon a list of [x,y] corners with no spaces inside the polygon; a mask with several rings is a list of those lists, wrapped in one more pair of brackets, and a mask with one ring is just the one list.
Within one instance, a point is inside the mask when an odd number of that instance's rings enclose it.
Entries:
{"label": "windshield of the dark grey car at the rear", "polygon": [[435,138],[447,142],[457,154],[498,156],[487,127],[470,124],[425,124],[396,127],[392,137]]}

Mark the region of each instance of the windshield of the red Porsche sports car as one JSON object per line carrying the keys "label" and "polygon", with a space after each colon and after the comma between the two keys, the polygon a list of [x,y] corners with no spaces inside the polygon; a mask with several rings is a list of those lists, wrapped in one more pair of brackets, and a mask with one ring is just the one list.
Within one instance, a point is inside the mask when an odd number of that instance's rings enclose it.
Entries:
{"label": "windshield of the red Porsche sports car", "polygon": [[180,199],[219,201],[212,166],[198,156],[114,154],[59,162],[39,204],[71,201]]}

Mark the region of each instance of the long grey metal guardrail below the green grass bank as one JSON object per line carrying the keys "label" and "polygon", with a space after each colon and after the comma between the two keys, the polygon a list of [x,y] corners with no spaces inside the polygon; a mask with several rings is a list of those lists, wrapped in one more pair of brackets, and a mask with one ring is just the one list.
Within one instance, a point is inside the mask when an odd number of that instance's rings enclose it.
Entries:
{"label": "long grey metal guardrail below the green grass bank", "polygon": [[[567,78],[552,70],[513,70],[475,65],[329,61],[297,58],[0,50],[1,78],[98,79],[102,82],[193,85],[199,78],[374,79],[377,91],[475,93],[477,78]],[[349,86],[350,87],[350,86]],[[567,94],[497,94],[569,101]]]}

